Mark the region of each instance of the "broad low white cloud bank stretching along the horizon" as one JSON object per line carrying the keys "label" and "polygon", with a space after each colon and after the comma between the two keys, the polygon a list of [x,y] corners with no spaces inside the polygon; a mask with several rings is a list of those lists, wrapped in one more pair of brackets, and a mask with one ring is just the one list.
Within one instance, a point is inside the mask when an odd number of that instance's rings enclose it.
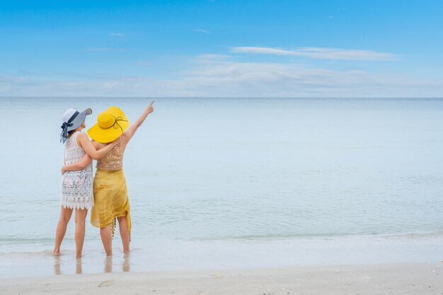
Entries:
{"label": "broad low white cloud bank stretching along the horizon", "polygon": [[442,97],[442,80],[333,71],[303,64],[236,62],[206,54],[176,79],[142,76],[0,76],[0,96]]}

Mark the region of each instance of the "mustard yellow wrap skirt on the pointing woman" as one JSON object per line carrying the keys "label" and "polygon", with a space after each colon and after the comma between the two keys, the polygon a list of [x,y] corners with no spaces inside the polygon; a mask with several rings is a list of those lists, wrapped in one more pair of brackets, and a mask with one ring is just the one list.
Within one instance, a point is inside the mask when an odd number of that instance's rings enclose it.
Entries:
{"label": "mustard yellow wrap skirt on the pointing woman", "polygon": [[117,217],[126,216],[127,230],[131,235],[130,200],[123,170],[97,169],[93,186],[94,207],[91,210],[91,224],[100,228],[110,226],[114,236]]}

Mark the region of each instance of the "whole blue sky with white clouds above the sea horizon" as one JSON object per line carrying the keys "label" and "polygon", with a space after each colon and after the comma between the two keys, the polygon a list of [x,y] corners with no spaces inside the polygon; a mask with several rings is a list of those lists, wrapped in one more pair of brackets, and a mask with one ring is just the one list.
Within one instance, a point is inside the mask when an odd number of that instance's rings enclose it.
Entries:
{"label": "whole blue sky with white clouds above the sea horizon", "polygon": [[0,96],[443,97],[443,1],[0,1]]}

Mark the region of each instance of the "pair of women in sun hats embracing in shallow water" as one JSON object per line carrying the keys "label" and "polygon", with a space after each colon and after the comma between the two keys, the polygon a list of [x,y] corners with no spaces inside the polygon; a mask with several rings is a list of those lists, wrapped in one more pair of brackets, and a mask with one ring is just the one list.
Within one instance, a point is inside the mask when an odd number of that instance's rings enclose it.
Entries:
{"label": "pair of women in sun hats embracing in shallow water", "polygon": [[[86,133],[86,116],[91,109],[76,112],[68,109],[62,116],[62,142],[64,167],[62,168],[61,213],[55,234],[54,255],[60,254],[67,224],[75,210],[76,258],[81,258],[85,236],[85,220],[89,209],[91,224],[100,228],[106,255],[112,255],[112,238],[116,220],[119,222],[123,251],[130,251],[130,203],[125,175],[122,171],[123,155],[127,144],[146,117],[154,112],[151,102],[134,124],[130,125],[121,109],[110,107],[98,115],[98,123]],[[92,159],[96,159],[93,177]]]}

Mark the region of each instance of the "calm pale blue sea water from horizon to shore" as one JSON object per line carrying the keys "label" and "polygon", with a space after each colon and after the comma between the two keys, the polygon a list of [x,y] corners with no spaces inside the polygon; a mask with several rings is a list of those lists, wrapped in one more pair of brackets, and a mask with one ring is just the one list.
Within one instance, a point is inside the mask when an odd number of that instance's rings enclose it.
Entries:
{"label": "calm pale blue sea water from horizon to shore", "polygon": [[[258,243],[272,251],[281,241],[368,236],[432,236],[436,248],[442,241],[443,100],[155,100],[125,154],[136,253]],[[90,127],[110,106],[134,121],[150,101],[0,98],[2,264],[44,260],[52,250],[64,110],[91,107]],[[101,257],[98,230],[86,230],[86,255]]]}

